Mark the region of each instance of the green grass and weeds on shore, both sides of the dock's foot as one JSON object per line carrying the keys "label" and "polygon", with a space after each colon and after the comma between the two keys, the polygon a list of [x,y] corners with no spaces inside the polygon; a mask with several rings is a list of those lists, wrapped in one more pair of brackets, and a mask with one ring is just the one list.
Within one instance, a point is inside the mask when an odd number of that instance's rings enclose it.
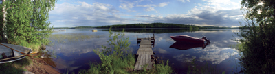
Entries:
{"label": "green grass and weeds on shore, both sides of the dock's foot", "polygon": [[[154,64],[153,69],[144,70],[141,71],[133,71],[135,68],[135,58],[133,54],[128,54],[127,56],[123,56],[122,58],[112,58],[111,59],[111,65],[104,65],[106,63],[101,64],[92,64],[90,62],[90,69],[87,70],[80,70],[78,74],[132,74],[132,73],[145,73],[145,74],[168,74],[173,73],[173,70],[168,65],[169,60],[167,60],[166,64]],[[143,67],[147,67],[149,64],[144,65]],[[111,68],[110,71],[106,70],[106,67]]]}

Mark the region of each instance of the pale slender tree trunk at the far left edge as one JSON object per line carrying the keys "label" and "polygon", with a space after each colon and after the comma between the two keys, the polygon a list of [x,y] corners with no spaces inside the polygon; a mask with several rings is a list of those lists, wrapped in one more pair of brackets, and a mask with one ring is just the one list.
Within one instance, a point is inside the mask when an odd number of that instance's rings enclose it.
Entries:
{"label": "pale slender tree trunk at the far left edge", "polygon": [[[2,3],[5,2],[5,0],[2,0]],[[5,27],[5,20],[7,12],[5,11],[5,5],[3,6],[3,27],[1,31],[1,37],[2,37],[2,43],[8,43],[8,37],[7,37],[7,28]]]}

